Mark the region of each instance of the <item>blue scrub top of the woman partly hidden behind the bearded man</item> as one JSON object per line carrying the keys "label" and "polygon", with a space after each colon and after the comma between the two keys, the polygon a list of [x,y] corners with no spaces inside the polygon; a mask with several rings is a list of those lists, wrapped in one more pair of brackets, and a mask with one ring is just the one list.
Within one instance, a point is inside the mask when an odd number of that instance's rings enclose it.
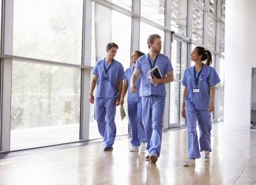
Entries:
{"label": "blue scrub top of the woman partly hidden behind the bearded man", "polygon": [[141,97],[139,95],[139,89],[140,89],[140,86],[141,86],[141,76],[138,76],[138,78],[137,78],[137,83],[136,83],[137,92],[136,93],[131,93],[130,92],[130,77],[133,75],[134,67],[135,66],[127,68],[126,71],[123,73],[123,76],[122,76],[122,80],[127,81],[127,83],[128,83],[128,99],[127,99],[128,102],[139,102],[139,101],[141,101]]}

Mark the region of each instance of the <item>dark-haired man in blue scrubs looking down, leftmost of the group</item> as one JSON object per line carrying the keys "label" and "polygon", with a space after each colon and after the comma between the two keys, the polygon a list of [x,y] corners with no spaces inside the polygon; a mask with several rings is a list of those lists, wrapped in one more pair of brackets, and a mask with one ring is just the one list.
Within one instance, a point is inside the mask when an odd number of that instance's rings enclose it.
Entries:
{"label": "dark-haired man in blue scrubs looking down, leftmost of the group", "polygon": [[[107,57],[98,61],[92,70],[89,102],[94,105],[94,116],[100,135],[104,138],[104,151],[112,151],[116,135],[115,109],[122,93],[123,67],[114,59],[119,46],[107,44]],[[96,99],[93,91],[96,88]]]}

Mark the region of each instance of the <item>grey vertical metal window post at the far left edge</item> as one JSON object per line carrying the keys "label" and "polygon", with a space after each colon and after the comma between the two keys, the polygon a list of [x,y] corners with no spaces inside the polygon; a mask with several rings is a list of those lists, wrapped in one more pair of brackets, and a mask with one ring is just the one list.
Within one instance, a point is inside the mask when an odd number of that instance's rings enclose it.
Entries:
{"label": "grey vertical metal window post at the far left edge", "polygon": [[[2,54],[13,54],[13,0],[2,3]],[[12,59],[2,60],[1,150],[10,150]]]}

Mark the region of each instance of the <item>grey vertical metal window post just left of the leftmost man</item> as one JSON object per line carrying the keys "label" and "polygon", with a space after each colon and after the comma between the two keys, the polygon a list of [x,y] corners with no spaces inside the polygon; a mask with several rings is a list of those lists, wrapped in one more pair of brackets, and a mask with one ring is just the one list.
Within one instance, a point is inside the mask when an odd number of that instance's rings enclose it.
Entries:
{"label": "grey vertical metal window post just left of the leftmost man", "polygon": [[[83,9],[83,32],[82,32],[82,61],[85,66],[91,65],[92,50],[92,0],[84,0]],[[80,139],[89,139],[89,115],[90,105],[88,95],[90,89],[91,69],[81,69],[81,120],[80,120]]]}

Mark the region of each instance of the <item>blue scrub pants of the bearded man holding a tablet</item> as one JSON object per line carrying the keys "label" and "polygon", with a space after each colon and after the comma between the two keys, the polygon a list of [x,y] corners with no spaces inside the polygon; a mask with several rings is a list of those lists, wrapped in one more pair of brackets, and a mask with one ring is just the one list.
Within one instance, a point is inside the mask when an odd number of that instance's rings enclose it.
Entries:
{"label": "blue scrub pants of the bearded man holding a tablet", "polygon": [[142,120],[147,135],[149,154],[160,156],[162,142],[162,122],[164,116],[164,96],[149,95],[141,97]]}

